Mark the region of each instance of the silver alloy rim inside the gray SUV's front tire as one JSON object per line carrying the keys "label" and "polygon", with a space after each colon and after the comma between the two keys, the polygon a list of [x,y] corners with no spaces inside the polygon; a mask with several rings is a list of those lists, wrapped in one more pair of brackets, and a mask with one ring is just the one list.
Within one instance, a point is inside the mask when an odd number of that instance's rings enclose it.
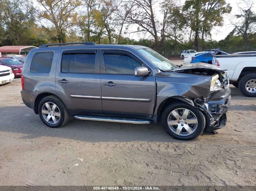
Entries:
{"label": "silver alloy rim inside the gray SUV's front tire", "polygon": [[198,119],[191,110],[178,108],[169,114],[167,123],[172,132],[187,136],[196,130]]}

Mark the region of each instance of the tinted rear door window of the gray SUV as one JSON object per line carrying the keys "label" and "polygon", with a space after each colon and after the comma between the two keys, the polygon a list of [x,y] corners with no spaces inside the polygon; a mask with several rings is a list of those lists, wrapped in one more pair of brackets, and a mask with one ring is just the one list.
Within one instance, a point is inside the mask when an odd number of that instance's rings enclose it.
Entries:
{"label": "tinted rear door window of the gray SUV", "polygon": [[96,73],[95,53],[71,53],[62,55],[62,72]]}

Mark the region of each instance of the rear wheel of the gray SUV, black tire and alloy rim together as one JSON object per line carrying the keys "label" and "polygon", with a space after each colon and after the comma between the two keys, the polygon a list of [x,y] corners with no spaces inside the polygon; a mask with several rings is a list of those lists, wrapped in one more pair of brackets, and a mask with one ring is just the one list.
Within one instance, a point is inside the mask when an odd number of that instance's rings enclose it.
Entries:
{"label": "rear wheel of the gray SUV, black tire and alloy rim together", "polygon": [[70,118],[66,106],[57,96],[43,98],[38,105],[38,113],[42,122],[51,128],[64,126]]}

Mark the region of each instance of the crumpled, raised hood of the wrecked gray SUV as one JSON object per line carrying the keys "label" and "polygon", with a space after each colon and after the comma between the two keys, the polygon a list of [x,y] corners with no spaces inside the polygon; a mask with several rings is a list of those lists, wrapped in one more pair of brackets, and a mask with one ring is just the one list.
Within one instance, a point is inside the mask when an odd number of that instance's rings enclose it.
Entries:
{"label": "crumpled, raised hood of the wrecked gray SUV", "polygon": [[217,71],[226,71],[227,70],[224,68],[220,68],[219,66],[216,66],[216,65],[198,62],[198,63],[186,64],[179,68],[172,69],[171,72],[181,71],[181,70],[198,69],[198,68],[217,70]]}

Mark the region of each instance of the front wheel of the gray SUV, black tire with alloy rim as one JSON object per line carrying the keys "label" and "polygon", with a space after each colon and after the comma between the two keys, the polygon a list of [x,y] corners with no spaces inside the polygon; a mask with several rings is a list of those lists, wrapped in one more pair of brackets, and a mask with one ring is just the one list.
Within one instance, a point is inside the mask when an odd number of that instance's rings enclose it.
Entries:
{"label": "front wheel of the gray SUV, black tire with alloy rim", "polygon": [[[173,115],[173,112],[175,111],[178,111],[179,113],[174,114],[176,117]],[[187,117],[185,117],[186,114],[185,116],[182,116],[185,111],[188,112]],[[192,116],[194,118],[192,118]],[[186,120],[184,120],[184,117]],[[177,118],[179,119],[177,120]],[[186,121],[188,120],[190,120],[190,122],[197,123],[187,123]],[[201,132],[203,132],[205,127],[205,118],[203,113],[197,108],[192,107],[186,103],[175,103],[166,107],[162,113],[161,121],[168,135],[175,139],[184,141],[192,140],[198,137]],[[171,125],[168,125],[168,123]],[[190,133],[186,129],[188,129]],[[177,130],[181,130],[180,133],[178,133]]]}

